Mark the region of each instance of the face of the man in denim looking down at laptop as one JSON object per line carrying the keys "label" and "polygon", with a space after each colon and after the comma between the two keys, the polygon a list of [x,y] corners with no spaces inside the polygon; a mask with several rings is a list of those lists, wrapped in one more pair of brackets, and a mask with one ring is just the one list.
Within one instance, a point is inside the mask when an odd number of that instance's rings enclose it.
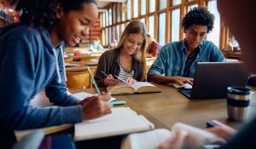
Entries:
{"label": "face of the man in denim looking down at laptop", "polygon": [[192,25],[185,30],[185,43],[189,51],[196,49],[207,35],[207,26]]}

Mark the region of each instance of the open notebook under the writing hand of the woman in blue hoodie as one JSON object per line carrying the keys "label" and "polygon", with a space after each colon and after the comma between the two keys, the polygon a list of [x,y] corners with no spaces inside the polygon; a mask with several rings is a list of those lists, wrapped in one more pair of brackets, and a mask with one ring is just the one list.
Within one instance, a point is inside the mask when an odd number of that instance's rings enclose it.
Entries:
{"label": "open notebook under the writing hand of the woman in blue hoodie", "polygon": [[75,124],[74,140],[90,140],[113,135],[125,135],[154,129],[142,115],[137,115],[129,107],[117,107],[112,113],[92,120]]}

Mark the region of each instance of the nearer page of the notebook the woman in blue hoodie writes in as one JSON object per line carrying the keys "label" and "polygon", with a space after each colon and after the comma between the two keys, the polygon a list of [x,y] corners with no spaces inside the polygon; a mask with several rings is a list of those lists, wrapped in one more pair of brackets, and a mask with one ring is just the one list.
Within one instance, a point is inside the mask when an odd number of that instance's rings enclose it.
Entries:
{"label": "nearer page of the notebook the woman in blue hoodie writes in", "polygon": [[142,117],[118,117],[100,122],[76,123],[74,140],[89,140],[154,129],[154,124],[147,123],[148,121]]}

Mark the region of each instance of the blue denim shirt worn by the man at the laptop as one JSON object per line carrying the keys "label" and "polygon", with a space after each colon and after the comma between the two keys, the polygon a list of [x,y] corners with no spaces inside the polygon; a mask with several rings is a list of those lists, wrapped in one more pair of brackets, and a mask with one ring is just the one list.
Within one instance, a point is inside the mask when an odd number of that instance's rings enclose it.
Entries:
{"label": "blue denim shirt worn by the man at the laptop", "polygon": [[[210,41],[202,41],[198,48],[199,54],[190,67],[189,77],[194,77],[197,62],[225,61],[224,55],[216,45]],[[184,40],[166,44],[160,49],[158,58],[148,70],[148,76],[165,74],[165,76],[183,77],[187,57],[188,53]]]}

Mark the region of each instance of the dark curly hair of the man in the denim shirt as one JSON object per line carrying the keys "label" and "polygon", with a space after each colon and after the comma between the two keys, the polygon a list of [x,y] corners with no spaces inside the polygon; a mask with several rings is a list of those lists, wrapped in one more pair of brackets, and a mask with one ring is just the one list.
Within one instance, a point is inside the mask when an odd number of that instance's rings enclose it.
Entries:
{"label": "dark curly hair of the man in the denim shirt", "polygon": [[205,7],[197,7],[190,9],[189,13],[185,14],[182,20],[184,30],[192,25],[207,26],[207,33],[212,32],[215,17]]}

